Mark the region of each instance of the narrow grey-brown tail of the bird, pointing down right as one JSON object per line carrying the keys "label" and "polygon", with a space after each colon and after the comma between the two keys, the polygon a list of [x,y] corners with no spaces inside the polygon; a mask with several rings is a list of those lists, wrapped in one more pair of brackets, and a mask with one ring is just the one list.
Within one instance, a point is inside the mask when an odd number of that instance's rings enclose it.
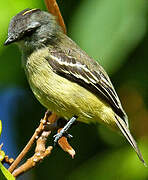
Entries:
{"label": "narrow grey-brown tail of the bird, pointing down right", "polygon": [[136,151],[139,159],[143,162],[143,164],[145,166],[146,163],[142,157],[142,154],[137,146],[137,143],[136,141],[134,140],[134,138],[132,137],[131,133],[130,133],[130,130],[129,128],[127,127],[127,125],[125,124],[125,122],[117,115],[115,115],[115,118],[116,118],[116,124],[117,126],[119,127],[119,129],[121,130],[122,134],[126,137],[126,139],[128,140],[128,142],[131,144],[131,146],[134,148],[134,150]]}

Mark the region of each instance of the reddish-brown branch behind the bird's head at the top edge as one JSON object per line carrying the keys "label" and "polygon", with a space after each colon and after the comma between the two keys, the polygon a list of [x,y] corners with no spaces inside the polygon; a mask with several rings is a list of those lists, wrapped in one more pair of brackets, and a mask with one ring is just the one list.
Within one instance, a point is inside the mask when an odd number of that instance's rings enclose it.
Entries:
{"label": "reddish-brown branch behind the bird's head at the top edge", "polygon": [[45,4],[48,11],[57,17],[59,25],[62,27],[63,32],[66,34],[66,26],[56,0],[45,0]]}

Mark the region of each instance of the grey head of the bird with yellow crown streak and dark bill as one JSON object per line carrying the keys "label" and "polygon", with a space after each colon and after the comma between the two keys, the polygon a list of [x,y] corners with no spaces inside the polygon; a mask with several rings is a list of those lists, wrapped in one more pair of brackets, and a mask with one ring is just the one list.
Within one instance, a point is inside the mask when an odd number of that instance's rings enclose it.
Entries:
{"label": "grey head of the bird with yellow crown streak and dark bill", "polygon": [[62,31],[55,17],[40,9],[25,9],[14,16],[9,24],[5,45],[13,42],[24,48],[52,43]]}

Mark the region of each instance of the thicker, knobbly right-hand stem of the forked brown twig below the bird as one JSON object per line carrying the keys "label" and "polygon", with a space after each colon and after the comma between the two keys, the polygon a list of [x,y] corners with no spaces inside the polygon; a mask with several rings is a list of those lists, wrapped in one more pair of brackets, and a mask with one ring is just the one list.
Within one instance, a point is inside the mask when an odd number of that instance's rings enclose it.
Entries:
{"label": "thicker, knobbly right-hand stem of the forked brown twig below the bird", "polygon": [[45,113],[45,116],[43,120],[41,120],[39,128],[37,128],[36,130],[38,134],[36,134],[35,136],[35,140],[36,140],[35,154],[31,158],[29,158],[23,165],[15,169],[12,172],[13,176],[17,177],[20,174],[23,174],[24,172],[33,168],[37,163],[41,162],[41,160],[43,160],[51,153],[53,147],[49,146],[46,148],[46,141],[48,136],[51,134],[51,130],[54,128],[52,124],[54,124],[57,121],[57,119],[58,117],[55,113],[51,113],[50,111],[47,111]]}

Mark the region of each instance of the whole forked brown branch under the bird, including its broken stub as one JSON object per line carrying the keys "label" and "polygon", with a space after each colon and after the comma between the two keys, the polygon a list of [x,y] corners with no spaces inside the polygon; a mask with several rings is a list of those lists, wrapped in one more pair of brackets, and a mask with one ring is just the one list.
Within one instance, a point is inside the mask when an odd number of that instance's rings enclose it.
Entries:
{"label": "whole forked brown branch under the bird, including its broken stub", "polygon": [[[30,170],[31,168],[35,167],[36,164],[40,163],[45,157],[51,154],[51,150],[53,149],[53,147],[49,146],[46,148],[46,142],[52,130],[57,128],[57,120],[58,116],[55,113],[51,113],[49,111],[45,113],[45,116],[41,120],[40,125],[36,129],[34,135],[30,139],[26,147],[23,149],[23,151],[20,153],[20,155],[16,158],[14,163],[10,166],[9,171],[12,172],[13,176],[17,177]],[[61,129],[62,128],[58,129],[58,132]],[[23,165],[15,169],[35,141],[36,148],[34,155],[29,158]],[[74,157],[75,151],[69,145],[66,137],[61,137],[58,141],[58,144],[64,151],[68,152],[72,156],[72,158]]]}

